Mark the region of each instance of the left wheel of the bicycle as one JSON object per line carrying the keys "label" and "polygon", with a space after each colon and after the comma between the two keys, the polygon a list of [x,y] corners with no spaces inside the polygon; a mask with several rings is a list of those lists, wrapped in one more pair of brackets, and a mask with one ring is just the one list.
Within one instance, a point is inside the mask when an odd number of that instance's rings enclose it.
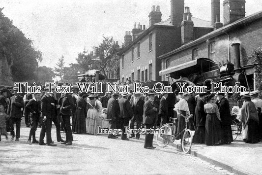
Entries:
{"label": "left wheel of the bicycle", "polygon": [[[164,134],[161,133],[161,131],[164,131]],[[167,136],[173,137],[172,136],[172,128],[171,128],[170,125],[165,124],[165,125],[160,127],[159,133],[156,134],[157,145],[160,146],[160,147],[164,147],[164,146],[168,145],[169,140],[167,139],[168,138]]]}

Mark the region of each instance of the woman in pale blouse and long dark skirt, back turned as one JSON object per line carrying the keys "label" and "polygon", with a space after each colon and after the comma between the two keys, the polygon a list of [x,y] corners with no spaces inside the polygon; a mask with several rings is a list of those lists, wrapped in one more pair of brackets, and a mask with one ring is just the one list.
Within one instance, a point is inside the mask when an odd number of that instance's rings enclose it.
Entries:
{"label": "woman in pale blouse and long dark skirt, back turned", "polygon": [[218,106],[214,104],[214,94],[206,98],[204,111],[207,113],[205,120],[205,144],[217,145],[223,143],[223,132],[221,128],[221,119]]}

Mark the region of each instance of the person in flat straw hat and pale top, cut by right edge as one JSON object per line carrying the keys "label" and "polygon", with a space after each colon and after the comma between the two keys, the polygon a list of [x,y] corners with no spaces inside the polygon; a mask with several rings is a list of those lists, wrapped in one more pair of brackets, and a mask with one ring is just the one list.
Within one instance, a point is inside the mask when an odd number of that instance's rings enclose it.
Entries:
{"label": "person in flat straw hat and pale top, cut by right edge", "polygon": [[255,104],[258,110],[258,115],[259,115],[259,138],[260,141],[262,141],[262,99],[259,98],[259,91],[252,91],[250,92],[251,96],[251,102]]}

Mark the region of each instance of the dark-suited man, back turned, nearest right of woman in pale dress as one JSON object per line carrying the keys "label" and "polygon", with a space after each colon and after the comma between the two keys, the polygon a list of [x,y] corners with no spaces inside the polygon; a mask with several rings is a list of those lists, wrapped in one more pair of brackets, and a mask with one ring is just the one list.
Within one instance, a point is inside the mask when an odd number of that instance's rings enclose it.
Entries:
{"label": "dark-suited man, back turned, nearest right of woman in pale dress", "polygon": [[[119,104],[116,101],[119,93],[114,93],[107,104],[107,119],[109,119],[110,130],[116,129],[116,119],[119,118]],[[108,134],[108,139],[116,139],[113,134]]]}

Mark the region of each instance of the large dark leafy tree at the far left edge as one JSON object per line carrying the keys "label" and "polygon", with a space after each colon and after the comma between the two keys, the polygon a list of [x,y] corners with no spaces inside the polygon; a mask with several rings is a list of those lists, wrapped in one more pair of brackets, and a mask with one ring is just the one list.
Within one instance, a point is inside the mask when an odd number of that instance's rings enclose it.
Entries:
{"label": "large dark leafy tree at the far left edge", "polygon": [[0,9],[0,60],[7,62],[9,68],[0,69],[0,74],[10,77],[11,72],[13,80],[20,82],[33,79],[38,62],[42,61],[42,53],[35,50],[32,41],[4,16],[2,9]]}

